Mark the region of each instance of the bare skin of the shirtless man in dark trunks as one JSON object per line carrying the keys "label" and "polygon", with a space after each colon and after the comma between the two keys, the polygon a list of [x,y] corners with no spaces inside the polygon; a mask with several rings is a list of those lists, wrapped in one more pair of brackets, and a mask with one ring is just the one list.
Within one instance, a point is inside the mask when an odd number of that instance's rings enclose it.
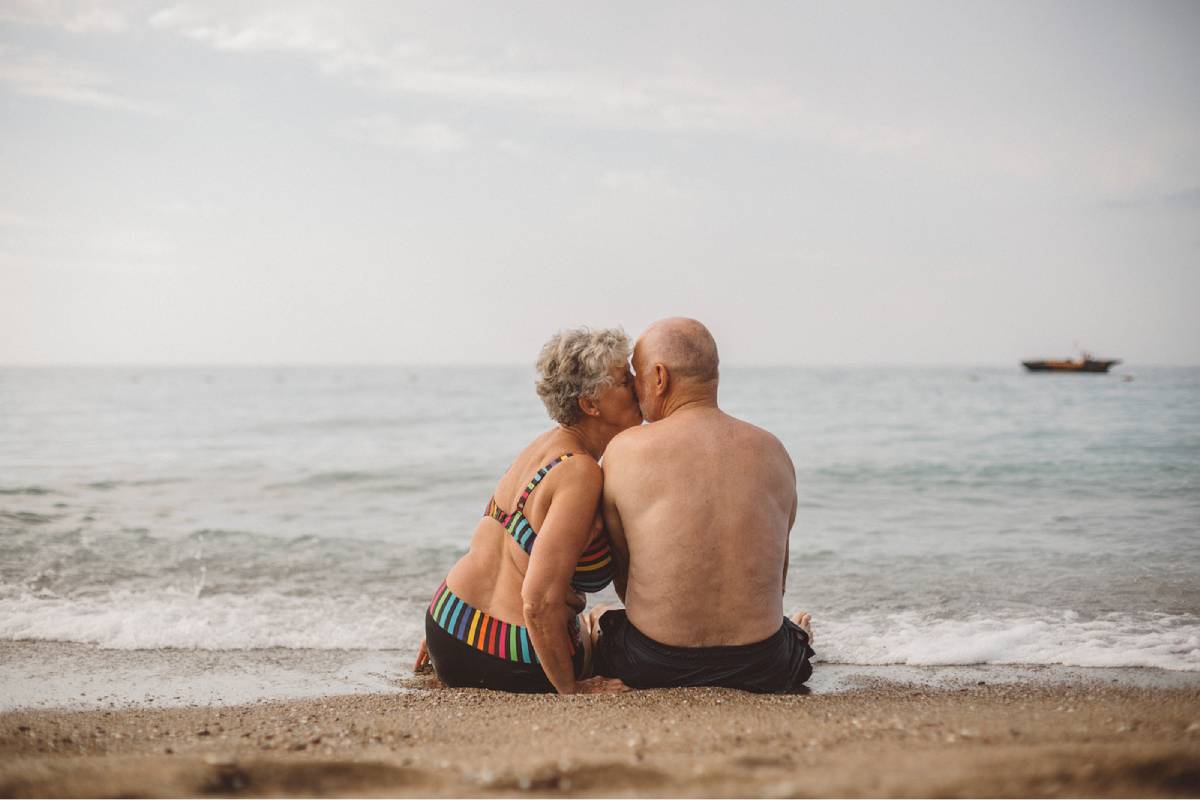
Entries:
{"label": "bare skin of the shirtless man in dark trunks", "polygon": [[[660,351],[671,325],[634,349],[650,425],[605,453],[604,515],[624,576],[629,620],[664,644],[749,644],[780,626],[796,471],[770,433],[725,414],[716,381],[672,375]],[[678,372],[678,371],[677,371]],[[793,621],[811,628],[808,614]]]}

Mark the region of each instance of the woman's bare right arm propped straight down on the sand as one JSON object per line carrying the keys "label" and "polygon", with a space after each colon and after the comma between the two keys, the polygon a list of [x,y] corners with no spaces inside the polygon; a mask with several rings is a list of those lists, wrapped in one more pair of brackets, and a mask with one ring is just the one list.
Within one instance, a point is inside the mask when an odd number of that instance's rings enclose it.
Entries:
{"label": "woman's bare right arm propped straight down on the sand", "polygon": [[600,465],[572,458],[554,488],[550,511],[538,529],[538,543],[529,557],[521,600],[526,627],[546,678],[560,694],[577,691],[571,663],[568,622],[575,615],[569,604],[575,564],[592,534],[602,476]]}

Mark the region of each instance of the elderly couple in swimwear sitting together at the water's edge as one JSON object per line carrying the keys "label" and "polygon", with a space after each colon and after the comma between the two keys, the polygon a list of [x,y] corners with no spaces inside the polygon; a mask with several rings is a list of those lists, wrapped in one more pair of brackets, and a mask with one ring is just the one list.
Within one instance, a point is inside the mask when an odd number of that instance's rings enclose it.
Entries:
{"label": "elderly couple in swimwear sitting together at the water's edge", "polygon": [[[558,425],[496,485],[430,603],[418,670],[563,694],[788,692],[809,678],[810,618],[782,607],[787,451],[720,410],[716,342],[698,321],[655,323],[631,361],[619,330],[542,348],[538,395]],[[582,593],[610,582],[625,608],[584,613]]]}

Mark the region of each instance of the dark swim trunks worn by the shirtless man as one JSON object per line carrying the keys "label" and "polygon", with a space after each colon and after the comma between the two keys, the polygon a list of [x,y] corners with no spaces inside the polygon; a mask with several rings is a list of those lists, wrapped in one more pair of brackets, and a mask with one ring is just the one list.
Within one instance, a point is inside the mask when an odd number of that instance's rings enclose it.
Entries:
{"label": "dark swim trunks worn by the shirtless man", "polygon": [[594,658],[598,675],[619,678],[634,688],[725,686],[779,693],[803,691],[814,655],[808,633],[790,619],[754,644],[677,648],[649,638],[618,609],[600,618]]}

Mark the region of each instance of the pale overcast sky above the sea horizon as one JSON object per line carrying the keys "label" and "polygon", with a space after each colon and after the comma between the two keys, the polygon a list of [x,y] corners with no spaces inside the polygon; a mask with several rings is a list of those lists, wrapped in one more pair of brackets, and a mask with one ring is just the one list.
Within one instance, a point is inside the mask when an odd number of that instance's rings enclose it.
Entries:
{"label": "pale overcast sky above the sea horizon", "polygon": [[1200,4],[0,0],[0,363],[1200,363]]}

